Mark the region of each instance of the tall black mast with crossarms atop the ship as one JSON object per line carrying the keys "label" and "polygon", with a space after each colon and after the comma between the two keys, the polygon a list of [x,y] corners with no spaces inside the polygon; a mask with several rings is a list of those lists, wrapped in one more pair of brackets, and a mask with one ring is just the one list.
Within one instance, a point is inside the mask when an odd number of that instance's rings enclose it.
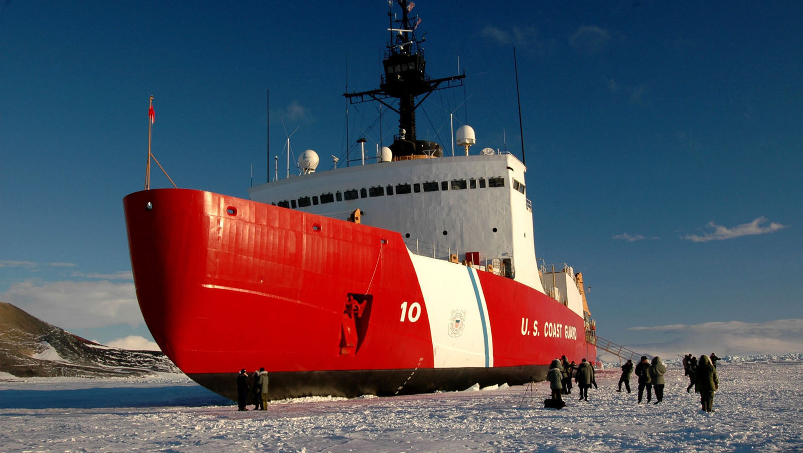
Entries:
{"label": "tall black mast with crossarms atop the ship", "polygon": [[[415,110],[433,91],[443,88],[460,87],[465,74],[453,75],[442,79],[430,79],[426,74],[426,60],[421,47],[426,36],[416,38],[415,30],[421,23],[418,16],[410,16],[414,8],[413,2],[395,0],[402,8],[402,18],[397,18],[392,10],[388,11],[390,37],[385,50],[382,75],[378,89],[361,92],[344,93],[351,103],[376,100],[399,115],[399,133],[393,136],[390,150],[393,160],[398,156],[426,158],[442,156],[440,144],[417,140],[415,131]],[[393,2],[389,2],[393,7]],[[398,99],[394,107],[385,99]],[[419,99],[420,98],[420,99]]]}

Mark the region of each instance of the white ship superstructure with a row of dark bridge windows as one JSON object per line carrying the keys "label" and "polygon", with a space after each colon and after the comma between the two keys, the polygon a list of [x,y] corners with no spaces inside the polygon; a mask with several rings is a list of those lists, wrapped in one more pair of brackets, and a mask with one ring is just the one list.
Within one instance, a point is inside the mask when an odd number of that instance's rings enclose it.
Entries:
{"label": "white ship superstructure with a row of dark bridge windows", "polygon": [[[509,153],[396,160],[292,176],[249,189],[252,200],[397,231],[414,253],[502,273],[544,292],[532,204]],[[479,259],[477,253],[479,253]],[[478,261],[478,262],[475,262]]]}

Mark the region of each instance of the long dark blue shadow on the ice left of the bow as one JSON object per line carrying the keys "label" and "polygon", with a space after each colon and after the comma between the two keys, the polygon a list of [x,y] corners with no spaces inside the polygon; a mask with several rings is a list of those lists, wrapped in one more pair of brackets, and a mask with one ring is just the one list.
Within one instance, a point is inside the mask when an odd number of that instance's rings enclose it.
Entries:
{"label": "long dark blue shadow on the ice left of the bow", "polygon": [[228,406],[233,402],[200,386],[94,387],[73,390],[0,390],[0,409]]}

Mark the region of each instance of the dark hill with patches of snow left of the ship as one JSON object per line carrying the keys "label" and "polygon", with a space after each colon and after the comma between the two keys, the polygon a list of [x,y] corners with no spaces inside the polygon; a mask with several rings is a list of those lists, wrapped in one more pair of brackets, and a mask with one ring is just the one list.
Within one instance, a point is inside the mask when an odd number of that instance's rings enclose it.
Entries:
{"label": "dark hill with patches of snow left of the ship", "polygon": [[131,378],[181,373],[158,351],[120,350],[80,338],[0,302],[0,372],[20,378]]}

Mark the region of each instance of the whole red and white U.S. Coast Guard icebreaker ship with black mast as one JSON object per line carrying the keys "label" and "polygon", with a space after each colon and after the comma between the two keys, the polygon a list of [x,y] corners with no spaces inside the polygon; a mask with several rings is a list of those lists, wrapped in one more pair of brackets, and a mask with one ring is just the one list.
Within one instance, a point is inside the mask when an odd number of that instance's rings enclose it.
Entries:
{"label": "whole red and white U.S. Coast Guard icebreaker ship with black mast", "polygon": [[[417,140],[430,79],[408,2],[391,23],[381,88],[399,134],[373,164],[249,189],[251,200],[163,188],[124,198],[142,314],[190,378],[236,399],[264,366],[270,398],[464,390],[543,380],[553,358],[594,361],[582,277],[538,265],[526,168],[489,148],[443,156]],[[391,16],[393,21],[393,16]]]}

